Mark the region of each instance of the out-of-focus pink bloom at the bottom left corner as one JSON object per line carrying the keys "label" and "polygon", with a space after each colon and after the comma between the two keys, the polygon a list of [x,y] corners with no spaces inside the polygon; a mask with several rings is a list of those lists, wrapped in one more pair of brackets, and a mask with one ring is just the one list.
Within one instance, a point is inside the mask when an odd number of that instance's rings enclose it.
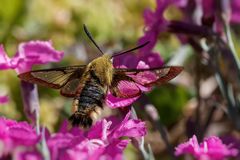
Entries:
{"label": "out-of-focus pink bloom at the bottom left corner", "polygon": [[0,117],[0,157],[13,153],[17,147],[35,147],[39,136],[35,129],[26,122],[16,122]]}

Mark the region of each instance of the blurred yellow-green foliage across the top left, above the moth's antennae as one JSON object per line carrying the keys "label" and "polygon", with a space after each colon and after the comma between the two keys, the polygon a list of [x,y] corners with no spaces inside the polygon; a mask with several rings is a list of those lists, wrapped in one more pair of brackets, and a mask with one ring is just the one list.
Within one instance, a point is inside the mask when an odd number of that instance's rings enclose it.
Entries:
{"label": "blurred yellow-green foliage across the top left, above the moth's antennae", "polygon": [[100,44],[119,41],[135,44],[143,30],[143,10],[153,6],[154,1],[1,0],[0,3],[2,42],[16,46],[21,41],[51,39],[58,48],[65,49],[79,40],[83,24],[87,24]]}

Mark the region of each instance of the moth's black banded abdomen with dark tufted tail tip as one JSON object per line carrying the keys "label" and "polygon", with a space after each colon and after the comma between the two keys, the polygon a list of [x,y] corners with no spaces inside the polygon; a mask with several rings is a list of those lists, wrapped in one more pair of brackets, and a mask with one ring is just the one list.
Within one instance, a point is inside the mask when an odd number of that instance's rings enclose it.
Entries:
{"label": "moth's black banded abdomen with dark tufted tail tip", "polygon": [[78,109],[69,118],[72,125],[90,127],[93,122],[90,114],[95,112],[96,107],[102,108],[105,94],[99,79],[92,73],[90,80],[83,87],[80,96],[75,98],[78,101]]}

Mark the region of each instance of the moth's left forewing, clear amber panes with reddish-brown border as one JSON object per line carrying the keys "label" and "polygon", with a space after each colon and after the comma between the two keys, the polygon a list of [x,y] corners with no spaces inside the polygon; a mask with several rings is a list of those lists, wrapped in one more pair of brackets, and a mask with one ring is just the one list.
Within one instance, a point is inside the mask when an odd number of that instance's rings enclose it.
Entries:
{"label": "moth's left forewing, clear amber panes with reddish-brown border", "polygon": [[22,73],[18,75],[18,77],[26,82],[60,89],[68,84],[68,81],[81,78],[83,72],[85,71],[85,67],[85,65],[82,65],[36,70]]}

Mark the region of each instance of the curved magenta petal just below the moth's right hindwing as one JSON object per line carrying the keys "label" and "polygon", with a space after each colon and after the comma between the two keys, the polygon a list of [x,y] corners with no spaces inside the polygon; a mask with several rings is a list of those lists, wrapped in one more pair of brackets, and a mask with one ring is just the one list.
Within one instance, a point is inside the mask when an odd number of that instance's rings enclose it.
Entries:
{"label": "curved magenta petal just below the moth's right hindwing", "polygon": [[133,98],[118,98],[109,93],[106,97],[106,103],[110,108],[119,108],[131,105],[138,98],[139,96]]}

